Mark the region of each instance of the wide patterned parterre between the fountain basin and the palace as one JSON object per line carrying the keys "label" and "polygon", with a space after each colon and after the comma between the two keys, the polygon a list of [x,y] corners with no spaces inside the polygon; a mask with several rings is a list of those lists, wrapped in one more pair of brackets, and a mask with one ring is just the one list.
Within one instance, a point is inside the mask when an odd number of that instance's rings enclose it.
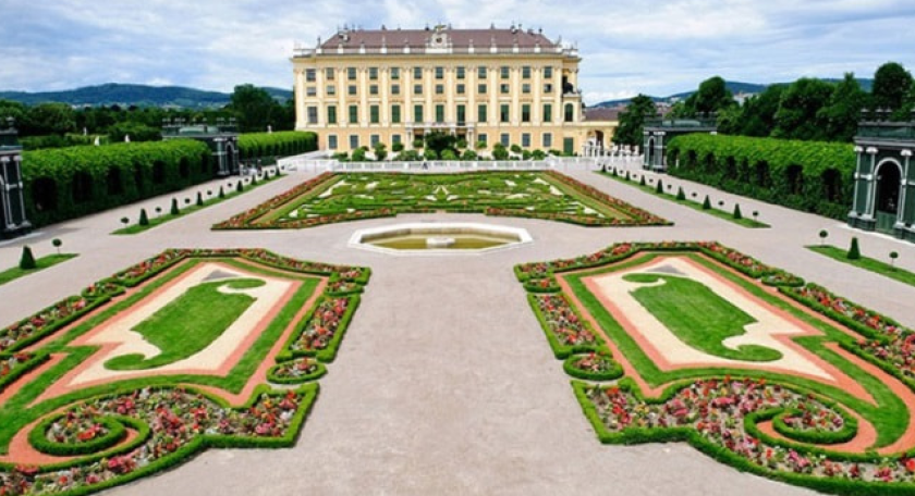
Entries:
{"label": "wide patterned parterre between the fountain basin and the palace", "polygon": [[325,173],[213,228],[301,228],[435,211],[545,219],[587,226],[668,224],[650,212],[548,171]]}

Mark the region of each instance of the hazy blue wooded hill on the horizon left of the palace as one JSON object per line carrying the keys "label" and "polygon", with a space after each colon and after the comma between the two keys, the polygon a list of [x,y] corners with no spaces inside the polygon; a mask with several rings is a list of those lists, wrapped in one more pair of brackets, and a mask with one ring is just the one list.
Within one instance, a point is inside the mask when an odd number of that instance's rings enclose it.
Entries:
{"label": "hazy blue wooded hill on the horizon left of the palace", "polygon": [[[281,88],[265,87],[271,97],[285,102],[292,98],[292,91]],[[182,86],[122,85],[109,83],[99,86],[63,91],[0,91],[0,99],[19,101],[28,106],[45,102],[60,102],[71,106],[136,106],[136,107],[181,107],[185,109],[218,108],[229,103],[230,94],[205,91]]]}

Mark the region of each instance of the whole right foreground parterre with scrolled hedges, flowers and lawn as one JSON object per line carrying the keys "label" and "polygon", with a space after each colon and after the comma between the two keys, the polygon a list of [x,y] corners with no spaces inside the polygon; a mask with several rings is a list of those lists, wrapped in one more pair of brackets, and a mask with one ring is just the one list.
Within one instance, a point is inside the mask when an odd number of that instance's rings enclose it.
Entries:
{"label": "whole right foreground parterre with scrolled hedges, flowers and lawn", "polygon": [[915,333],[718,243],[515,268],[598,438],[837,494],[915,491]]}

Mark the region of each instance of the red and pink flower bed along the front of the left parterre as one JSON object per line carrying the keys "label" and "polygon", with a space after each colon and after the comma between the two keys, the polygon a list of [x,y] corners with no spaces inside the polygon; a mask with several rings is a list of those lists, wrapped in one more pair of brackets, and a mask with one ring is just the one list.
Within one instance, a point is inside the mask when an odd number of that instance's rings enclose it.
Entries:
{"label": "red and pink flower bed along the front of the left parterre", "polygon": [[[74,409],[97,417],[143,425],[142,442],[130,450],[96,456],[78,464],[35,468],[19,466],[0,472],[0,494],[82,494],[121,484],[181,461],[205,445],[285,446],[314,400],[315,390],[258,394],[235,410],[182,388],[141,389],[99,397]],[[73,410],[64,413],[70,416]]]}

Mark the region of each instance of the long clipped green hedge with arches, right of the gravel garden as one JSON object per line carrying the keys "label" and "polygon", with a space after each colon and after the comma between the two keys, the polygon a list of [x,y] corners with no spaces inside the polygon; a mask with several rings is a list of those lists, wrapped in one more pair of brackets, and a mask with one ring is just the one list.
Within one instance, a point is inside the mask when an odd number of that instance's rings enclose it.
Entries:
{"label": "long clipped green hedge with arches, right of the gravel garden", "polygon": [[668,145],[668,173],[770,203],[844,219],[852,207],[852,145],[692,134]]}

